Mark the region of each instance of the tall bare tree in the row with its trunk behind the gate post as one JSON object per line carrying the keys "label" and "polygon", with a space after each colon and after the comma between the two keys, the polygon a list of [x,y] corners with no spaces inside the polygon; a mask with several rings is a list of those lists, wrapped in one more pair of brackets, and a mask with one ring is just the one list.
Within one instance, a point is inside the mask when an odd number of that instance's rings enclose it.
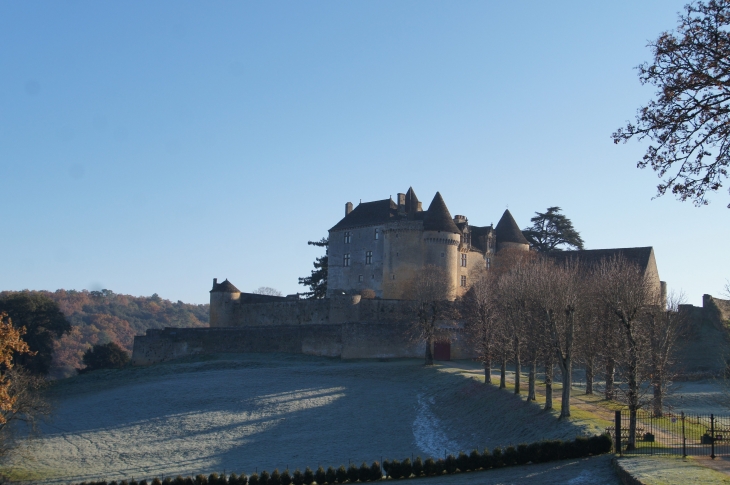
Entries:
{"label": "tall bare tree in the row with its trunk behind the gate post", "polygon": [[598,294],[618,322],[624,337],[626,359],[626,401],[629,408],[629,449],[636,446],[636,413],[641,407],[640,393],[643,380],[642,361],[647,350],[645,331],[646,308],[656,301],[656,289],[644,276],[643,271],[619,256],[602,261],[596,268],[599,278]]}

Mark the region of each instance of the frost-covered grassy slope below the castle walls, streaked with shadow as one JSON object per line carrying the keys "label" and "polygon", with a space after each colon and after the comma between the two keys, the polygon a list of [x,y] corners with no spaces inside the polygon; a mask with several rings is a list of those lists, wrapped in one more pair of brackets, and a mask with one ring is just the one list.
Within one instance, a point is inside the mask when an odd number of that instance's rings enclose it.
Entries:
{"label": "frost-covered grassy slope below the castle walls, streaked with shadow", "polygon": [[7,465],[33,483],[250,474],[600,431],[480,384],[482,372],[466,361],[424,367],[285,354],[97,371],[54,384],[53,421]]}

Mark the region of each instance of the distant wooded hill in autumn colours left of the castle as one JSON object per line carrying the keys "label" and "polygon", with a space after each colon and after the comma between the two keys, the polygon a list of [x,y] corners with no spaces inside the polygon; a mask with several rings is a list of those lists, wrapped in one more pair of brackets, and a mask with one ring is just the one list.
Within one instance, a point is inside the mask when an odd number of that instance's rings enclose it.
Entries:
{"label": "distant wooded hill in autumn colours left of the castle", "polygon": [[[0,292],[0,298],[13,292]],[[135,335],[148,328],[203,327],[208,325],[208,306],[192,305],[152,296],[116,294],[110,290],[33,291],[53,299],[71,332],[56,341],[51,376],[68,377],[82,368],[84,352],[95,344],[116,342],[132,352]]]}

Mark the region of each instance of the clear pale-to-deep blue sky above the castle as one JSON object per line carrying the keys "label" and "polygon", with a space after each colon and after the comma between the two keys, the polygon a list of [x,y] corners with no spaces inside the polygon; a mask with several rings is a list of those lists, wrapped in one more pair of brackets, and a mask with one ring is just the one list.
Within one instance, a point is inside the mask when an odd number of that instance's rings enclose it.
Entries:
{"label": "clear pale-to-deep blue sky above the castle", "polygon": [[347,201],[435,192],[587,248],[654,246],[699,304],[730,202],[652,200],[634,67],[684,1],[0,2],[0,289],[303,291]]}

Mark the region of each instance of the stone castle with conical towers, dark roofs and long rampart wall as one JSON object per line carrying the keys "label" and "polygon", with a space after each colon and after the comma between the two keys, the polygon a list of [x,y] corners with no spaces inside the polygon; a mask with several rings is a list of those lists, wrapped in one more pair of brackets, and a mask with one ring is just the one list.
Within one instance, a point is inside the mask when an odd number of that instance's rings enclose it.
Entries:
{"label": "stone castle with conical towers, dark roofs and long rampart wall", "polygon": [[[327,298],[299,299],[241,292],[228,280],[213,280],[209,328],[148,330],[135,337],[132,361],[143,365],[186,355],[218,352],[289,352],[353,358],[422,357],[423,342],[408,336],[407,289],[426,265],[443,268],[452,299],[505,249],[529,251],[529,243],[506,210],[496,227],[473,226],[451,216],[441,194],[427,210],[410,188],[391,198],[345,204],[345,216],[329,231]],[[657,287],[651,247],[560,251],[598,261],[621,254],[636,262]],[[369,291],[366,291],[369,290]],[[374,293],[375,298],[363,298]],[[446,358],[475,351],[455,328]]]}

